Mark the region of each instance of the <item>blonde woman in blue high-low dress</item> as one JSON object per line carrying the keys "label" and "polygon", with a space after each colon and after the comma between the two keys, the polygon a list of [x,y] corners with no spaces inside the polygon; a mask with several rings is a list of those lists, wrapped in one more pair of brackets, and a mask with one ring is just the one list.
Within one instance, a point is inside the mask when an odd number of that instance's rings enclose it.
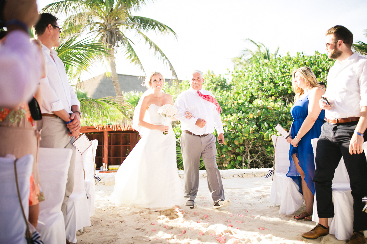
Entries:
{"label": "blonde woman in blue high-low dress", "polygon": [[299,192],[305,198],[306,210],[294,216],[295,219],[312,221],[313,196],[315,185],[313,176],[315,159],[311,139],[319,138],[325,111],[321,110],[319,100],[324,91],[317,82],[315,74],[309,67],[301,67],[293,71],[292,85],[295,92],[294,105],[291,108],[293,123],[291,136],[287,142],[289,149],[290,167],[287,173],[298,185]]}

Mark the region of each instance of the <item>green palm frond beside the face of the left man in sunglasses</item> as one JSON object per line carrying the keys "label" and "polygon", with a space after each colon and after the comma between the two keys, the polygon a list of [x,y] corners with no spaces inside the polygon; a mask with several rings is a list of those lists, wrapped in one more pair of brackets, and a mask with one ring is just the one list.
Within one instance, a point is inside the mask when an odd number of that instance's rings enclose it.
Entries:
{"label": "green palm frond beside the face of the left man in sunglasses", "polygon": [[95,42],[93,39],[85,38],[77,41],[77,37],[70,37],[57,49],[59,58],[65,65],[69,78],[87,71],[93,61],[108,57],[110,48],[106,43]]}

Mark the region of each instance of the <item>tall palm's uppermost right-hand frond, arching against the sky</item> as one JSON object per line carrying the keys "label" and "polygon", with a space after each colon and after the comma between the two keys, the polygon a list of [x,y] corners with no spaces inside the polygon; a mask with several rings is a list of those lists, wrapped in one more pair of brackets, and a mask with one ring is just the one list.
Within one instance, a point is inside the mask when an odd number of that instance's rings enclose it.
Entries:
{"label": "tall palm's uppermost right-hand frond, arching against the sky", "polygon": [[[132,24],[131,27],[137,30],[144,30],[149,31],[153,30],[155,33],[162,33],[162,34],[169,34],[172,33],[176,38],[177,34],[171,29],[171,27],[168,27],[164,25],[163,23],[150,18],[145,18],[142,16],[128,16],[127,21],[130,21]],[[127,23],[129,25],[129,23]]]}

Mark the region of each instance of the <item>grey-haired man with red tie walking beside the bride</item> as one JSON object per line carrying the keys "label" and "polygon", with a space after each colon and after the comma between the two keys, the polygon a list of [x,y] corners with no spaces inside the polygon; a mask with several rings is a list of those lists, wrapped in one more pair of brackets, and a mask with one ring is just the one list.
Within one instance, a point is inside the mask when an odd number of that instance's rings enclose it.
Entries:
{"label": "grey-haired man with red tie walking beside the bride", "polygon": [[[181,121],[181,152],[185,174],[186,206],[193,208],[194,200],[199,189],[200,157],[203,158],[208,180],[208,188],[214,203],[214,209],[226,207],[230,200],[225,200],[222,177],[217,165],[217,147],[215,136],[217,129],[218,143],[224,142],[224,130],[219,113],[221,107],[214,95],[203,87],[203,73],[199,70],[192,72],[190,89],[178,95],[175,107]],[[185,118],[185,112],[190,111],[192,118]]]}

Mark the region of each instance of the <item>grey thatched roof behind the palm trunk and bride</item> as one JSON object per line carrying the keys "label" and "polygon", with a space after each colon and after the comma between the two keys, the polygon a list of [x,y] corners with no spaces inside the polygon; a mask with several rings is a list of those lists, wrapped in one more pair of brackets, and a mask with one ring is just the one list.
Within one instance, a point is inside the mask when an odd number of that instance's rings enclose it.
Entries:
{"label": "grey thatched roof behind the palm trunk and bride", "polygon": [[[146,91],[146,88],[141,85],[145,76],[117,75],[123,92]],[[165,79],[165,81],[170,83],[170,79]],[[83,90],[90,98],[116,96],[115,89],[113,88],[112,77],[106,77],[105,74],[80,82],[78,89]]]}

